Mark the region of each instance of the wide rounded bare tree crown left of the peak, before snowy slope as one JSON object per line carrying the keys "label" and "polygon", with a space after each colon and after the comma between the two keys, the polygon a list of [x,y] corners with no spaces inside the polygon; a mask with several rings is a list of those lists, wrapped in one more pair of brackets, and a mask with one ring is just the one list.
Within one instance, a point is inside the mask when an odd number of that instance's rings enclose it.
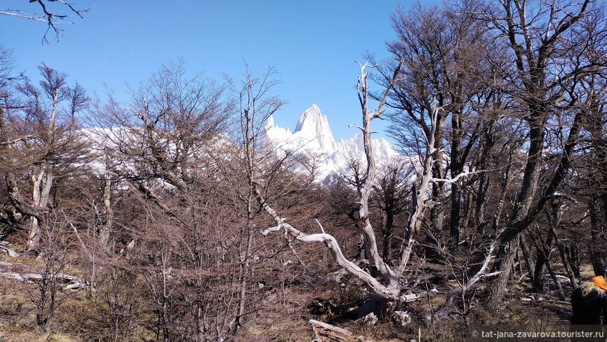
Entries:
{"label": "wide rounded bare tree crown left of the peak, before snowy slope", "polygon": [[[195,166],[207,143],[225,129],[231,104],[223,102],[223,91],[202,73],[188,77],[183,61],[168,63],[142,84],[130,104],[111,97],[96,104],[91,125],[104,129],[92,130],[91,139],[104,141],[96,147],[108,154],[112,173],[151,199],[162,182],[187,191],[195,187]],[[105,163],[105,155],[101,158]],[[167,214],[175,215],[168,209]]]}

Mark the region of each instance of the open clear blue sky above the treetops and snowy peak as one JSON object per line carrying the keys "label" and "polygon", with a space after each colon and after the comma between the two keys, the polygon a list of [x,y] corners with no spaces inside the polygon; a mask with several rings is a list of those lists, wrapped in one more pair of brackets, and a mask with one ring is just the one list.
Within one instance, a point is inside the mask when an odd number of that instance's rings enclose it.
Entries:
{"label": "open clear blue sky above the treetops and snowy peak", "polygon": [[[40,12],[27,1],[8,2]],[[243,61],[255,75],[272,66],[283,81],[276,94],[288,101],[276,123],[293,130],[299,114],[316,103],[336,139],[356,133],[347,124],[360,121],[354,61],[366,51],[387,56],[385,42],[396,36],[391,15],[399,4],[410,6],[396,0],[70,2],[91,10],[84,20],[61,25],[59,42],[49,33],[45,45],[45,23],[0,15],[0,43],[14,50],[18,70],[34,78],[44,62],[89,93],[102,95],[107,84],[126,100],[126,84],[136,88],[167,61],[183,59],[188,72],[218,81],[222,73],[237,79]]]}

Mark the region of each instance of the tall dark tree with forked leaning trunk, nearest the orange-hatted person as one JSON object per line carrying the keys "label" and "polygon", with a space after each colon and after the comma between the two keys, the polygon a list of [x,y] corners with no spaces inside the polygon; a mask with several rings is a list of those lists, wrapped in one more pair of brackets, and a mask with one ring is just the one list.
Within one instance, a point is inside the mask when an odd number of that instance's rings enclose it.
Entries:
{"label": "tall dark tree with forked leaning trunk, nearest the orange-hatted person", "polygon": [[[494,290],[494,300],[499,302],[506,288],[511,266],[518,249],[518,234],[529,227],[544,205],[553,198],[571,164],[571,154],[578,143],[582,114],[573,116],[568,127],[568,137],[562,143],[561,157],[553,176],[546,182],[540,194],[541,169],[546,158],[546,125],[557,108],[570,109],[576,96],[570,96],[578,81],[592,73],[596,57],[592,59],[570,59],[567,52],[580,51],[581,46],[591,46],[592,40],[580,23],[592,15],[592,1],[555,3],[503,1],[485,8],[484,13],[470,11],[477,20],[484,20],[497,36],[504,40],[514,56],[516,80],[510,87],[515,98],[520,100],[520,111],[528,125],[527,160],[520,184],[516,205],[512,209],[507,227],[500,233],[500,250],[495,265],[502,273]],[[530,11],[537,11],[531,15]],[[575,36],[574,40],[571,37]],[[576,48],[568,46],[575,42]],[[572,50],[572,48],[574,48]],[[579,63],[581,62],[581,63]]]}

